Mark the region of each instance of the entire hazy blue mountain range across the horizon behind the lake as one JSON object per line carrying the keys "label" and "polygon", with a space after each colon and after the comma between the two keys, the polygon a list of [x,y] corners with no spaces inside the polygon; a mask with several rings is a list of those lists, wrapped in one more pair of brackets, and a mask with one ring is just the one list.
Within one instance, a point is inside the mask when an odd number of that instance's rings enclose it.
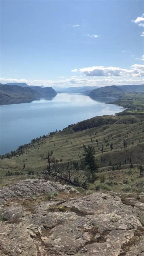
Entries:
{"label": "entire hazy blue mountain range across the horizon behind the lake", "polygon": [[[92,99],[100,98],[121,98],[127,92],[144,92],[144,84],[142,85],[111,85],[104,87],[97,86],[81,86],[81,87],[44,87],[27,85],[26,83],[9,83],[0,84],[0,104],[12,99],[34,99],[34,98],[50,98],[57,95],[57,92],[67,93],[83,93]],[[4,102],[4,103],[3,103]],[[20,102],[19,102],[20,103]]]}

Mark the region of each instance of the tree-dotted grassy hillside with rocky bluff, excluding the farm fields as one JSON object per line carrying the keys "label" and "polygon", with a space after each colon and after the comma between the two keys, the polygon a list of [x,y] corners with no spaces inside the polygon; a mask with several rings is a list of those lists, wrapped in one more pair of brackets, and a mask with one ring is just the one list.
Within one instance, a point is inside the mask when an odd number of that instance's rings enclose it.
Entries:
{"label": "tree-dotted grassy hillside with rocky bluff, excluding the farm fields", "polygon": [[[96,127],[94,127],[95,124],[97,124]],[[127,143],[126,147],[124,147],[124,140]],[[112,150],[110,149],[111,143],[113,143]],[[116,184],[129,176],[128,173],[131,170],[129,159],[131,158],[133,164],[131,174],[133,181],[131,182],[133,184],[139,176],[137,165],[144,165],[144,116],[94,117],[70,126],[61,132],[41,137],[20,148],[16,156],[10,157],[10,159],[5,157],[1,159],[1,183],[7,184],[11,179],[14,182],[13,176],[4,177],[8,171],[20,172],[25,174],[25,176],[21,176],[22,178],[27,178],[29,170],[34,171],[35,175],[45,170],[46,161],[41,158],[41,155],[46,155],[48,150],[53,150],[53,155],[58,160],[57,164],[61,167],[70,160],[77,161],[80,165],[84,153],[83,144],[94,146],[99,171],[105,174],[106,180],[109,179],[108,177],[113,177],[113,182]],[[102,145],[103,154],[101,152]],[[23,164],[25,164],[25,168],[23,168]],[[121,167],[119,168],[120,164]],[[119,170],[116,170],[117,165]],[[18,177],[15,177],[17,180]],[[142,180],[143,178],[139,179]],[[90,188],[94,189],[94,186],[99,182],[98,178],[94,184],[90,185]],[[111,190],[115,190],[117,187],[118,185],[113,184]],[[119,184],[118,190],[120,188],[121,184]]]}

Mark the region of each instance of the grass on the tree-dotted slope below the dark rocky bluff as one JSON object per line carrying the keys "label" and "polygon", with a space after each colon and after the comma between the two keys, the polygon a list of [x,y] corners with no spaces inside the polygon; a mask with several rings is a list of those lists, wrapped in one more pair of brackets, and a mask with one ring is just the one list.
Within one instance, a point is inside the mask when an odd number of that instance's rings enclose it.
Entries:
{"label": "grass on the tree-dotted slope below the dark rocky bluff", "polygon": [[[132,117],[129,116],[129,118],[132,122]],[[100,168],[108,167],[109,161],[111,161],[111,165],[119,165],[119,162],[124,165],[125,159],[128,166],[128,157],[131,158],[133,164],[144,164],[144,122],[143,120],[141,122],[141,119],[138,120],[139,123],[101,125],[66,135],[61,132],[46,137],[44,140],[24,148],[24,153],[18,155],[18,157],[1,159],[0,177],[3,177],[8,170],[13,173],[19,171],[22,174],[28,174],[29,170],[33,170],[35,175],[45,170],[46,161],[41,158],[41,155],[46,155],[48,150],[53,150],[53,156],[59,161],[58,164],[60,165],[70,160],[80,163],[83,155],[83,144],[94,146],[95,157],[98,159]],[[104,139],[108,142],[105,142]],[[127,142],[125,148],[123,147],[123,140]],[[113,143],[113,150],[110,149],[111,143]],[[104,147],[103,154],[101,152],[102,145]],[[63,160],[62,164],[60,159]],[[26,165],[25,169],[23,169],[23,162]],[[108,168],[111,169],[111,166]]]}

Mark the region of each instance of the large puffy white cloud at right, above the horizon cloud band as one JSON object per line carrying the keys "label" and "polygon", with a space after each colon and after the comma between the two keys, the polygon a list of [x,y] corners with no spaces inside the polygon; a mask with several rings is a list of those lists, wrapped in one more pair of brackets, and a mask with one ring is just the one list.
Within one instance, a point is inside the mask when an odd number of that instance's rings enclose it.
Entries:
{"label": "large puffy white cloud at right, above the horizon cloud band", "polygon": [[144,76],[144,65],[132,65],[130,70],[120,67],[84,67],[79,71],[86,76],[132,76],[132,77],[141,77]]}

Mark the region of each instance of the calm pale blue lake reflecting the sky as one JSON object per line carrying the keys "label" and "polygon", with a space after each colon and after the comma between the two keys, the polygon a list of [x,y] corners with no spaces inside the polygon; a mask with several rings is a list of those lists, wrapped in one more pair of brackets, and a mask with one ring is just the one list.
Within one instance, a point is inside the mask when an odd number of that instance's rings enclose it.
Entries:
{"label": "calm pale blue lake reflecting the sky", "polygon": [[0,106],[0,154],[69,124],[102,115],[114,115],[122,107],[92,100],[82,94],[60,93],[53,99]]}

